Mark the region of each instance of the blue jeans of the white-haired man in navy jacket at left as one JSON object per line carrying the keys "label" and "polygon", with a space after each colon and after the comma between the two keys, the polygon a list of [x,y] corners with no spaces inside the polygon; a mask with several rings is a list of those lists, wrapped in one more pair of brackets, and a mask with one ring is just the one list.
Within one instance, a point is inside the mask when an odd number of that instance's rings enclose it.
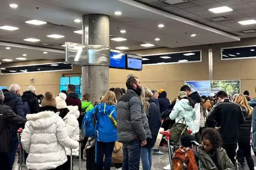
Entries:
{"label": "blue jeans of the white-haired man in navy jacket at left", "polygon": [[14,164],[15,156],[16,156],[19,144],[20,143],[19,143],[18,136],[17,136],[17,130],[16,130],[16,128],[12,127],[12,148],[8,153],[9,166],[11,168]]}

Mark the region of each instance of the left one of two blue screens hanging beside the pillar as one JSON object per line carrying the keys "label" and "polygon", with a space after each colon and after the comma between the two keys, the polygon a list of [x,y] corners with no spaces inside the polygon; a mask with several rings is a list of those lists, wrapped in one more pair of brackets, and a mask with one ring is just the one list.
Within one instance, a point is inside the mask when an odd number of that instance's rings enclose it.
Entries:
{"label": "left one of two blue screens hanging beside the pillar", "polygon": [[125,68],[125,54],[110,51],[110,67]]}

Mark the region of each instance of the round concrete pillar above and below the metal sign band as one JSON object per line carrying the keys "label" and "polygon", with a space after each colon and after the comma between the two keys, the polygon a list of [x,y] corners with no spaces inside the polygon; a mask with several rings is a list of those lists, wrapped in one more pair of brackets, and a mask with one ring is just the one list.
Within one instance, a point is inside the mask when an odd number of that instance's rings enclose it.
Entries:
{"label": "round concrete pillar above and below the metal sign band", "polygon": [[[109,46],[109,16],[86,14],[82,16],[82,44]],[[82,92],[90,94],[90,100],[98,101],[108,91],[109,66],[82,65]]]}

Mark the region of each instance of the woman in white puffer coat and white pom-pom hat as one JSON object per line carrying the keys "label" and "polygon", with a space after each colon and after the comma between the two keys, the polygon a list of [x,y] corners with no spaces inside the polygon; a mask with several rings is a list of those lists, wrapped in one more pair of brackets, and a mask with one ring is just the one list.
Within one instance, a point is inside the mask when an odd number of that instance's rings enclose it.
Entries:
{"label": "woman in white puffer coat and white pom-pom hat", "polygon": [[[65,100],[67,99],[66,94],[60,93],[56,97],[57,109],[59,110],[59,116],[64,120],[67,128],[68,136],[73,140],[79,140],[79,118],[80,112],[78,106],[67,106]],[[63,164],[62,170],[70,170],[70,152],[71,149],[65,147],[67,153],[67,162]],[[72,150],[73,156],[79,156],[79,148]]]}

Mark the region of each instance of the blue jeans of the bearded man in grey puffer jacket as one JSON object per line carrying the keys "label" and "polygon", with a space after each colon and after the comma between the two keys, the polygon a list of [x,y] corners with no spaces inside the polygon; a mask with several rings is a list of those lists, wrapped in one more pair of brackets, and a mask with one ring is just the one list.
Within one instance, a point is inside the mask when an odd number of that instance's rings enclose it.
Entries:
{"label": "blue jeans of the bearded man in grey puffer jacket", "polygon": [[123,164],[122,170],[140,170],[140,140],[136,139],[123,143]]}

